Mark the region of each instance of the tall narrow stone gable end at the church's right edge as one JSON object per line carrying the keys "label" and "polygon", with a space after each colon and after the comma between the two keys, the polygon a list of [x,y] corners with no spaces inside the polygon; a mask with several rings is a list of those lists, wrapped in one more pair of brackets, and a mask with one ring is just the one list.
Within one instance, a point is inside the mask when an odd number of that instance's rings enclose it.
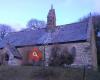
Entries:
{"label": "tall narrow stone gable end at the church's right edge", "polygon": [[94,70],[97,70],[98,64],[97,64],[96,32],[95,32],[92,16],[90,16],[88,22],[87,41],[90,43],[91,46],[93,68]]}

